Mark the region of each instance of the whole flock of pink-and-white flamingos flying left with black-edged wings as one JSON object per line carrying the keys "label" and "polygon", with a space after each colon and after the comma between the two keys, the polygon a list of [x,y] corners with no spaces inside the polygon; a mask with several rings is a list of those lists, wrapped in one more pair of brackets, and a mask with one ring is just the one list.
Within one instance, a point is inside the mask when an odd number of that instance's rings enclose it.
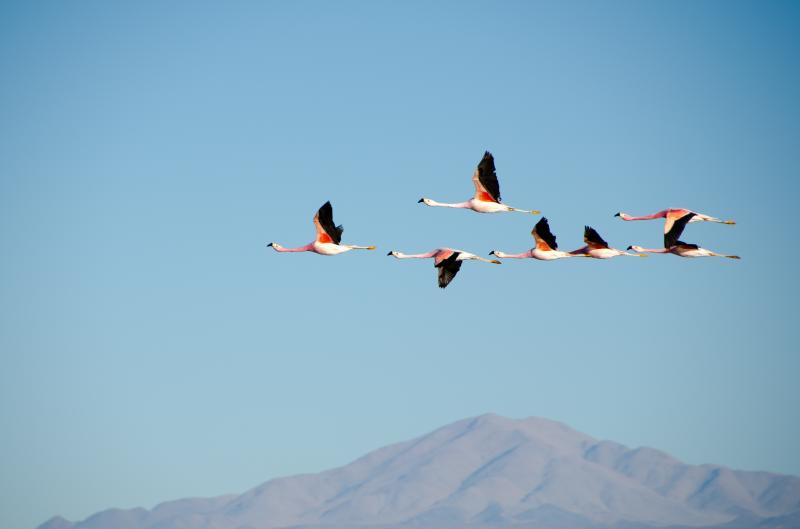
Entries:
{"label": "whole flock of pink-and-white flamingos flying left with black-edged wings", "polygon": [[[512,208],[500,201],[500,184],[497,181],[497,173],[494,166],[494,157],[486,151],[481,159],[475,173],[472,175],[472,183],[475,185],[475,195],[466,202],[447,204],[436,202],[429,198],[419,199],[420,203],[427,206],[471,209],[478,213],[503,213],[516,211],[520,213],[532,213],[538,215],[538,210],[527,210]],[[709,215],[703,215],[688,209],[665,209],[652,215],[634,217],[627,213],[619,212],[615,217],[622,220],[651,220],[666,219],[664,222],[664,247],[656,249],[642,248],[641,246],[628,246],[626,251],[609,247],[594,228],[586,226],[584,229],[583,240],[586,246],[564,252],[558,249],[556,236],[550,231],[547,219],[542,217],[533,227],[533,235],[536,245],[522,253],[505,253],[499,250],[492,250],[489,255],[500,259],[539,259],[542,261],[552,261],[566,257],[590,257],[593,259],[610,259],[619,255],[630,257],[647,257],[650,253],[671,253],[679,257],[726,257],[728,259],[739,259],[736,255],[724,255],[696,244],[685,243],[680,240],[684,228],[690,222],[718,222],[721,224],[735,224],[732,220],[720,220]],[[342,226],[337,226],[333,222],[333,207],[330,202],[326,202],[319,208],[314,215],[314,226],[317,229],[317,237],[313,242],[298,248],[285,248],[278,243],[271,242],[267,246],[276,252],[314,252],[320,255],[338,255],[349,252],[350,250],[374,250],[375,246],[357,246],[355,244],[342,244]],[[637,253],[630,253],[633,250]],[[484,259],[473,253],[452,248],[436,248],[426,253],[405,254],[402,252],[391,251],[387,255],[397,259],[433,259],[433,265],[438,271],[439,287],[445,288],[461,269],[464,261],[483,261],[485,263],[500,264],[497,259]]]}

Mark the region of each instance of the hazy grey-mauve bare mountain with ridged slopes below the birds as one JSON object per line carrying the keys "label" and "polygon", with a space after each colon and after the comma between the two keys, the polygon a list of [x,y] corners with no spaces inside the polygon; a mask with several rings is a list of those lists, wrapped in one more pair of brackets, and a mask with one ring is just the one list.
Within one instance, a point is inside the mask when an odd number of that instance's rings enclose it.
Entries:
{"label": "hazy grey-mauve bare mountain with ridged slopes below the birds", "polygon": [[687,465],[561,423],[482,415],[241,495],[39,529],[800,528],[800,478]]}

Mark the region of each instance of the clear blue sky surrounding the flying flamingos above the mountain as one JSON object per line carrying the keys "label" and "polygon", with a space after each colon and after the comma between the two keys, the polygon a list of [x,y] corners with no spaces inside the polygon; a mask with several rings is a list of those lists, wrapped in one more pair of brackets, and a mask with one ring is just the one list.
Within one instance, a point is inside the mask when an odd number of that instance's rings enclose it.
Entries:
{"label": "clear blue sky surrounding the flying flamingos above the mountain", "polygon": [[[116,4],[116,5],[112,5]],[[167,5],[168,4],[168,5]],[[483,412],[800,474],[793,2],[4,2],[0,518],[243,492]],[[485,149],[565,249],[458,202]],[[326,200],[376,252],[309,242]]]}

